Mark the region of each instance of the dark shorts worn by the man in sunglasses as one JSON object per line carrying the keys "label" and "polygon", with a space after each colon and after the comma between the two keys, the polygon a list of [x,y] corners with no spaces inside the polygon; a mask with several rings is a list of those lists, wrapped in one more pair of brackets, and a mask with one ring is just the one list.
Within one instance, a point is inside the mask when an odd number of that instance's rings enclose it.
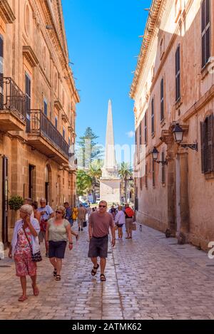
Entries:
{"label": "dark shorts worn by the man in sunglasses", "polygon": [[88,258],[100,257],[106,259],[108,257],[108,234],[101,238],[92,236],[89,244]]}

